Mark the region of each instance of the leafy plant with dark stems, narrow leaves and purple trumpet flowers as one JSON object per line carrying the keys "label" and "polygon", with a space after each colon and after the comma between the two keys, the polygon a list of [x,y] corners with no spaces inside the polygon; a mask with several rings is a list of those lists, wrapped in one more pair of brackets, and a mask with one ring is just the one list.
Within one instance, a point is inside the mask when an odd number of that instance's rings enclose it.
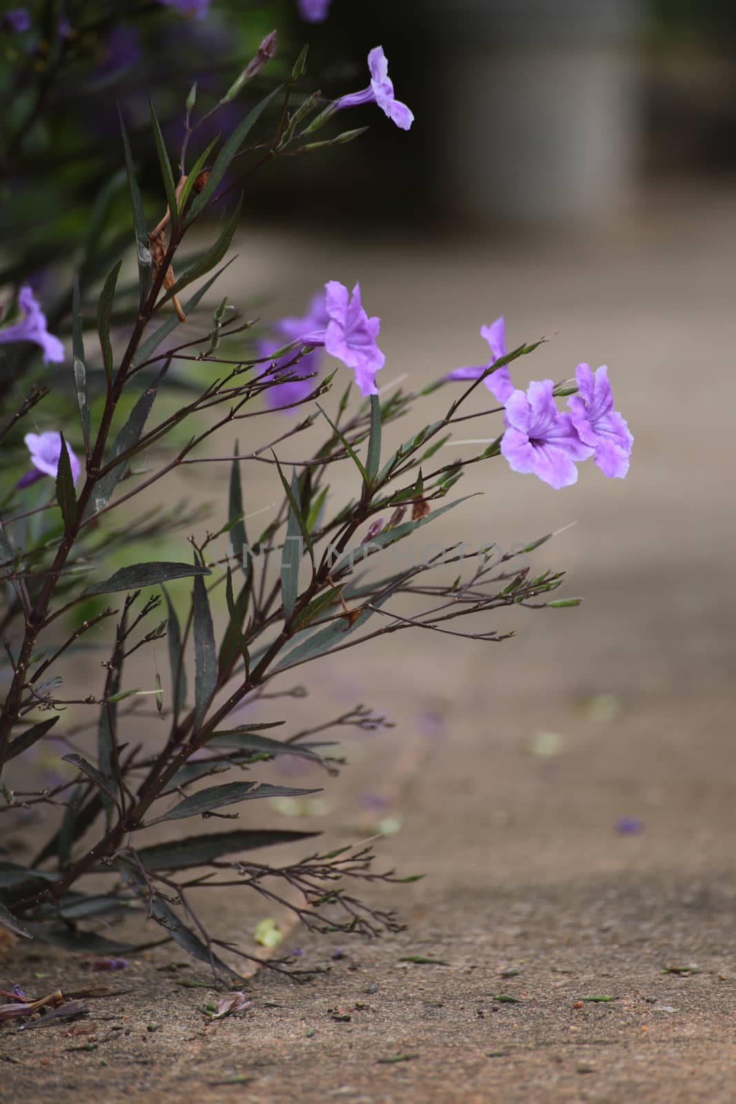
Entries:
{"label": "leafy plant with dark stems, narrow leaves and purple trumpet flowers", "polygon": [[[206,3],[166,2],[194,17],[206,13]],[[327,3],[301,7],[310,19],[327,14]],[[358,137],[361,131],[351,130],[311,140],[350,106],[376,103],[403,129],[412,125],[412,113],[394,97],[381,47],[369,55],[370,87],[327,105],[302,87],[302,51],[282,85],[244,110],[220,141],[198,148],[202,121],[230,104],[275,53],[270,34],[230,91],[199,117],[192,88],[178,171],[151,108],[163,211],[158,221],[143,208],[121,126],[137,263],[132,301],[122,256],[102,286],[83,262],[55,332],[29,285],[17,296],[9,289],[0,325],[4,371],[13,384],[6,395],[18,396],[14,406],[7,400],[0,424],[0,813],[44,810],[50,822],[32,861],[0,861],[0,924],[21,936],[119,955],[135,947],[100,936],[94,925],[142,911],[166,938],[223,979],[237,975],[235,956],[254,956],[205,930],[192,903],[202,889],[237,883],[274,901],[281,896],[270,887],[280,880],[299,892],[290,907],[309,927],[374,935],[395,928],[397,920],[355,898],[350,883],[410,880],[375,872],[373,853],[362,845],[277,867],[252,862],[247,852],[302,834],[253,824],[188,830],[192,819],[231,817],[245,802],[313,793],[260,783],[259,766],[289,754],[329,776],[338,762],[316,734],[338,724],[384,723],[359,708],[317,729],[274,735],[282,723],[275,707],[265,723],[243,718],[242,707],[292,696],[282,689],[287,672],[356,645],[370,647],[387,634],[424,629],[497,643],[503,638],[492,627],[498,609],[577,604],[552,597],[562,573],[532,575],[519,559],[547,537],[504,554],[488,546],[469,554],[470,545],[455,542],[401,570],[382,553],[463,501],[451,491],[470,464],[503,456],[513,470],[561,488],[575,481],[577,465],[588,458],[606,476],[622,477],[631,449],[606,369],[594,375],[580,364],[575,382],[544,380],[520,390],[518,362],[538,342],[506,351],[502,319],[481,330],[491,348],[488,363],[445,372],[414,393],[391,382],[381,386],[381,323],[364,309],[358,283],[350,291],[328,279],[303,316],[260,329],[231,305],[230,295],[214,309],[207,306],[211,288],[227,283],[245,177],[274,159]],[[210,240],[206,216],[223,211]],[[192,238],[199,252],[180,263],[182,243]],[[193,319],[199,325],[182,331]],[[206,370],[204,383],[192,368]],[[337,384],[340,397],[330,402]],[[74,407],[58,397],[66,386]],[[444,415],[428,424],[419,420],[403,444],[386,448],[385,428],[439,388],[450,392]],[[470,410],[484,389],[498,405]],[[565,399],[568,408],[558,408]],[[242,452],[238,428],[267,413],[264,400],[286,416],[275,439]],[[439,459],[458,423],[493,415],[498,433],[477,455]],[[223,437],[224,452],[209,455],[207,445]],[[308,444],[296,448],[302,440]],[[215,503],[214,531],[202,531],[196,510],[150,509],[166,480],[190,465],[228,471],[227,501]],[[254,482],[243,473],[264,465],[280,501],[257,532],[249,522]],[[330,493],[334,465],[350,469],[348,501]],[[137,512],[139,501],[147,503],[143,512]],[[164,534],[181,548],[177,560],[129,554],[131,541],[153,549]],[[366,570],[376,556],[390,567],[377,577]],[[441,570],[448,564],[451,578]],[[181,580],[191,587],[185,594],[177,590]],[[398,612],[407,595],[414,599],[410,616]],[[468,616],[483,618],[480,631],[450,627]],[[154,699],[163,735],[137,744],[129,730],[140,715],[141,692],[126,682],[128,660],[164,637],[169,673],[156,669],[154,684],[142,691]],[[106,649],[100,684],[70,698],[65,686],[74,683],[75,654],[92,639]],[[72,707],[74,715],[84,714],[78,724],[67,720]],[[61,744],[71,774],[21,788],[24,758],[51,741]],[[227,772],[236,781],[223,781]],[[174,820],[185,821],[181,831],[161,840],[156,827]],[[200,868],[209,868],[209,877],[192,873]],[[107,880],[104,892],[79,890],[79,879],[90,873]]]}

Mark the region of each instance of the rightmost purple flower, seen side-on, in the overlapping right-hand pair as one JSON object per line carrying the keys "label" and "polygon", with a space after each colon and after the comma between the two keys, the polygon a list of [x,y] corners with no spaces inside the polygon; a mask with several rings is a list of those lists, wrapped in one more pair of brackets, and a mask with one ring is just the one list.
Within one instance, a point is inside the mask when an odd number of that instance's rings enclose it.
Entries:
{"label": "rightmost purple flower, seen side-on, in the overlapping right-hand pair", "polygon": [[602,364],[594,375],[589,364],[575,369],[577,394],[567,401],[573,425],[580,440],[594,449],[593,457],[609,479],[622,479],[629,470],[633,437],[614,410],[608,369]]}

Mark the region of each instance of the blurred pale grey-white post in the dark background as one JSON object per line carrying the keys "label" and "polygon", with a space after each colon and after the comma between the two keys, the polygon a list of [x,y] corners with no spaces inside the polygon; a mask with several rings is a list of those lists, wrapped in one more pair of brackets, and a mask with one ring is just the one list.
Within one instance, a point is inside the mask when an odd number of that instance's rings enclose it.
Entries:
{"label": "blurred pale grey-white post in the dark background", "polygon": [[630,202],[639,0],[429,0],[448,200],[493,221],[607,221]]}

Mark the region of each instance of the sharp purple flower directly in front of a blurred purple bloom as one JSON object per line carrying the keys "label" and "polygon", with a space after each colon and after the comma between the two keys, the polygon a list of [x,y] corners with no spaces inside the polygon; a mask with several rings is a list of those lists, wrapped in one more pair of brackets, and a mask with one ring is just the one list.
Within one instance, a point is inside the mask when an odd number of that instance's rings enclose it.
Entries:
{"label": "sharp purple flower directly in front of a blurred purple bloom", "polygon": [[369,318],[363,310],[360,284],[353,288],[352,297],[338,280],[331,279],[324,287],[330,318],[327,329],[303,333],[299,340],[305,344],[323,344],[331,357],[353,369],[362,395],[376,395],[375,374],[386,362],[375,340],[381,319]]}

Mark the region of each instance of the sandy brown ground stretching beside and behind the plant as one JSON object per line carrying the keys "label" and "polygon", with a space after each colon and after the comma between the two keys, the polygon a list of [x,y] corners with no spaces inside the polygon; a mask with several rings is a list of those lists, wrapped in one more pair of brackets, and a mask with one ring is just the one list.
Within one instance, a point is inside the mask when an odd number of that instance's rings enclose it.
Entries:
{"label": "sandy brown ground stretching beside and behind the plant", "polygon": [[[109,983],[130,991],[95,1004],[94,1034],[0,1032],[13,1098],[730,1104],[735,232],[736,204],[712,199],[660,202],[609,238],[523,246],[390,253],[246,233],[246,299],[266,282],[294,310],[316,268],[360,276],[383,316],[386,381],[472,362],[478,327],[502,310],[511,344],[558,335],[522,374],[607,362],[632,469],[608,485],[589,465],[555,492],[493,461],[468,479],[484,497],[465,524],[438,523],[438,539],[509,546],[577,521],[534,563],[568,569],[578,609],[530,615],[500,647],[390,637],[317,672],[320,709],[369,701],[397,728],[349,743],[323,821],[276,822],[358,839],[362,797],[386,792],[401,764],[384,810],[401,829],[380,860],[430,877],[373,899],[397,905],[407,930],[343,940],[334,959],[333,937],[297,930],[301,963],[329,972],[299,987],[259,975],[252,1009],[218,1023],[201,1013],[212,991],[181,985],[206,983],[204,968],[160,970],[181,953],[150,953]],[[254,481],[253,508],[259,496]],[[643,830],[617,832],[620,817]],[[205,909],[246,944],[263,915],[234,894]],[[410,955],[447,965],[401,962]],[[90,979],[83,960],[39,946],[1,969],[26,989]]]}

